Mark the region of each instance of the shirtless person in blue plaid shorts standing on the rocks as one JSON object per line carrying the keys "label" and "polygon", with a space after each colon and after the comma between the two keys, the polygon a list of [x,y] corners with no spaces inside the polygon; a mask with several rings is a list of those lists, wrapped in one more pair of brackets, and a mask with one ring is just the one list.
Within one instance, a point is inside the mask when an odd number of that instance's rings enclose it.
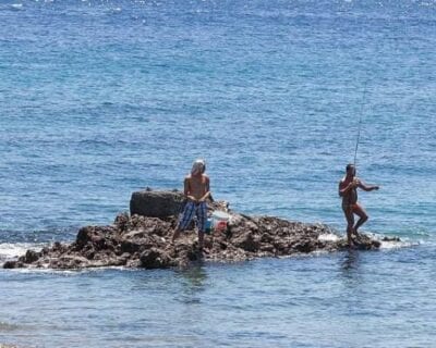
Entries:
{"label": "shirtless person in blue plaid shorts standing on the rocks", "polygon": [[210,181],[204,174],[206,171],[206,163],[204,160],[196,160],[191,170],[191,174],[184,178],[184,196],[187,199],[184,206],[182,216],[172,235],[174,241],[180,232],[186,229],[194,215],[197,216],[198,227],[198,249],[203,249],[204,234],[206,232],[207,221],[207,203],[206,199],[210,197]]}

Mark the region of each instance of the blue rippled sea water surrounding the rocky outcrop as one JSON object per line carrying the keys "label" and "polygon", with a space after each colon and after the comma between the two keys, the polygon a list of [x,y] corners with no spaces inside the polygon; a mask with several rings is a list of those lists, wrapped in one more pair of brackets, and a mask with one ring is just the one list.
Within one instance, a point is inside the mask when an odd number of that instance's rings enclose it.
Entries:
{"label": "blue rippled sea water surrounding the rocky outcrop", "polygon": [[0,263],[182,188],[324,222],[358,139],[377,252],[0,270],[0,344],[434,347],[436,2],[0,1]]}

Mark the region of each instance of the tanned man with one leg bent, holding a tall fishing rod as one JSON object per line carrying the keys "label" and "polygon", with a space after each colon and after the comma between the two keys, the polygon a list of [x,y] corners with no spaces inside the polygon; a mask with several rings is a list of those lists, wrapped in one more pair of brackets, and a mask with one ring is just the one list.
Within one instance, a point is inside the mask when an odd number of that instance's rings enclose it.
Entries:
{"label": "tanned man with one leg bent, holding a tall fishing rod", "polygon": [[[339,182],[339,196],[342,197],[342,210],[347,219],[347,240],[350,247],[353,246],[352,236],[358,236],[358,228],[368,219],[365,210],[358,203],[358,188],[365,191],[377,190],[378,186],[367,186],[355,176],[355,166],[347,165],[347,174]],[[360,219],[354,225],[354,214]]]}

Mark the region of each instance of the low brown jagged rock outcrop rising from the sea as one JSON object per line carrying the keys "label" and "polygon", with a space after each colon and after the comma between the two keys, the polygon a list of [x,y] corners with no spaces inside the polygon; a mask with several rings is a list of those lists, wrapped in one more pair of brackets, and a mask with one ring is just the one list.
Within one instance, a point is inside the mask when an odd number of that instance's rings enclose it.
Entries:
{"label": "low brown jagged rock outcrop rising from the sea", "polygon": [[[112,225],[81,228],[72,244],[55,243],[40,251],[28,250],[19,260],[8,261],[3,266],[166,269],[186,266],[197,261],[233,262],[348,248],[347,241],[336,236],[327,225],[233,212],[229,212],[231,219],[226,229],[205,236],[203,250],[197,248],[197,235],[193,229],[182,233],[175,243],[171,243],[177,224],[173,212],[180,210],[180,206],[177,208],[179,195],[142,191],[138,196],[135,192],[132,196],[135,204],[141,201],[140,206],[153,206],[141,208],[141,212],[148,215],[119,214]],[[227,203],[215,202],[210,207],[213,210],[226,210]],[[360,235],[355,244],[362,250],[380,246],[378,240],[365,235]]]}

